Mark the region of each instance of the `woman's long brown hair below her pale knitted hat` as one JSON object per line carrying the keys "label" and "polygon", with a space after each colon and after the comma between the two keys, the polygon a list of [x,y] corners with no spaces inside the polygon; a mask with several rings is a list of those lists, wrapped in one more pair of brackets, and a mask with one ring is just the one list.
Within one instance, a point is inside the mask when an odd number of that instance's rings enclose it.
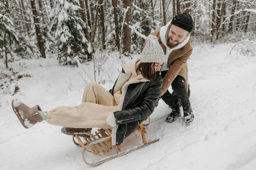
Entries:
{"label": "woman's long brown hair below her pale knitted hat", "polygon": [[147,78],[150,84],[154,84],[156,76],[160,74],[160,71],[155,70],[155,63],[140,63],[139,69],[144,78]]}

